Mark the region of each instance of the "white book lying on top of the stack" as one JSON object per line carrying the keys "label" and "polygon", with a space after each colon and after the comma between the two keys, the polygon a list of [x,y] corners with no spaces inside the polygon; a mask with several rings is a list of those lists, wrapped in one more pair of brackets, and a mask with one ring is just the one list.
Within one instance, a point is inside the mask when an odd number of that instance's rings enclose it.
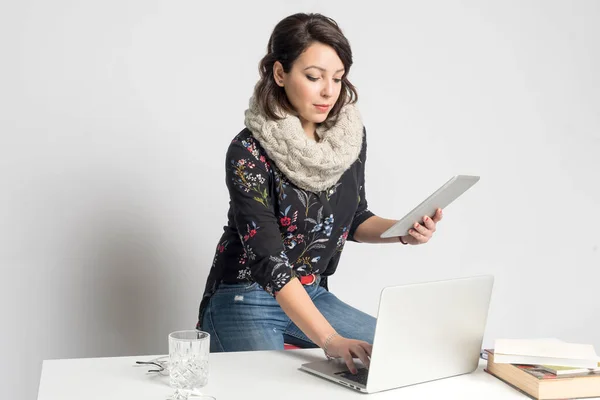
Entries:
{"label": "white book lying on top of the stack", "polygon": [[594,346],[558,339],[497,339],[494,351],[498,364],[595,368],[599,360]]}

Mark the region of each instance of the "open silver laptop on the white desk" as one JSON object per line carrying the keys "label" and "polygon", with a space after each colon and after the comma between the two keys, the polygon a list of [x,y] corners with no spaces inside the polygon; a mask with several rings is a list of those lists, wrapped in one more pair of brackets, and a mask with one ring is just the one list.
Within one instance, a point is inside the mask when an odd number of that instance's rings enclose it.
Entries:
{"label": "open silver laptop on the white desk", "polygon": [[364,393],[375,393],[477,369],[494,277],[386,287],[381,292],[371,365],[358,374],[342,360],[300,369]]}

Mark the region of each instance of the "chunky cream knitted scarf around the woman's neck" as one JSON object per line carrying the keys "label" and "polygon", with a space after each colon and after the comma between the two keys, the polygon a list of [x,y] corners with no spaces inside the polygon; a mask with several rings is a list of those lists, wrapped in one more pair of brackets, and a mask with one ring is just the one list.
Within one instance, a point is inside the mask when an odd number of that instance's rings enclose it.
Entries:
{"label": "chunky cream knitted scarf around the woman's neck", "polygon": [[277,167],[296,186],[320,192],[335,185],[360,154],[363,124],[354,104],[342,108],[335,126],[317,127],[319,141],[310,139],[297,116],[280,120],[260,113],[254,96],[245,112],[245,125]]}

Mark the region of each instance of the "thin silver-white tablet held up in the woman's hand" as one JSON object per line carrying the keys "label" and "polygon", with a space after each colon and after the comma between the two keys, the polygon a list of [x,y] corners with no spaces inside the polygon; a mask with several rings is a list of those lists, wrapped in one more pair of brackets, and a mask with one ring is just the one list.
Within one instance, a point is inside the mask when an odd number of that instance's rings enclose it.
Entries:
{"label": "thin silver-white tablet held up in the woman's hand", "polygon": [[390,229],[381,234],[382,238],[405,236],[415,222],[423,223],[423,217],[433,217],[438,208],[444,209],[458,196],[466,192],[471,186],[479,181],[478,176],[456,175],[436,190],[431,196],[423,200],[404,218],[396,222]]}

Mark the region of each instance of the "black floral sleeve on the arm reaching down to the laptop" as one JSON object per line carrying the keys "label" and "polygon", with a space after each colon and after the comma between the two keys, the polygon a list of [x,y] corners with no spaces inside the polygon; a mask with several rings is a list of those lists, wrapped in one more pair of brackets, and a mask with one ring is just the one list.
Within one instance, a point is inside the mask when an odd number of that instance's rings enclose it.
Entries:
{"label": "black floral sleeve on the arm reaching down to the laptop", "polygon": [[294,276],[274,209],[271,167],[251,140],[235,140],[226,158],[227,188],[252,279],[271,295]]}

